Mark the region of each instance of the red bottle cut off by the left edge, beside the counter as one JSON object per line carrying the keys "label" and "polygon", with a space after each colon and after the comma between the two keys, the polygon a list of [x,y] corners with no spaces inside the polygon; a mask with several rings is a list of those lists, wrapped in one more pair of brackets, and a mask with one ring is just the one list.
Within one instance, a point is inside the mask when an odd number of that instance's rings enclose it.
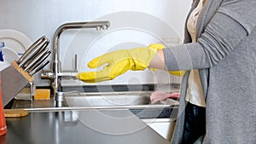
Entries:
{"label": "red bottle cut off by the left edge, beside the counter", "polygon": [[2,101],[2,89],[1,89],[1,77],[0,77],[0,135],[6,134],[7,127],[3,112],[3,101]]}

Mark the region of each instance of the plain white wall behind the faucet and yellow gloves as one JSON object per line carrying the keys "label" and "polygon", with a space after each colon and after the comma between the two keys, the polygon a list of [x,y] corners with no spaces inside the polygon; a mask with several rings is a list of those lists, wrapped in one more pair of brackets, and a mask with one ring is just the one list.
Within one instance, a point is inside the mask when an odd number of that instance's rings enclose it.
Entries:
{"label": "plain white wall behind the faucet and yellow gloves", "polygon": [[[116,49],[147,46],[149,43],[180,43],[183,26],[192,0],[1,0],[0,29],[14,29],[36,41],[45,35],[53,39],[63,23],[74,21],[109,20],[107,31],[87,29],[67,31],[61,35],[61,67],[72,70],[73,55],[79,57],[80,71],[91,71],[86,63],[105,52]],[[49,48],[52,49],[52,43]],[[45,67],[49,70],[50,66]],[[161,73],[161,76],[163,73]],[[156,74],[159,75],[159,74]],[[164,72],[165,77],[170,77]],[[158,83],[153,72],[126,72],[111,82],[102,84]],[[48,80],[35,76],[38,86],[49,85]],[[171,81],[175,77],[167,78]],[[169,80],[168,80],[169,81]],[[78,81],[68,84],[81,84]]]}

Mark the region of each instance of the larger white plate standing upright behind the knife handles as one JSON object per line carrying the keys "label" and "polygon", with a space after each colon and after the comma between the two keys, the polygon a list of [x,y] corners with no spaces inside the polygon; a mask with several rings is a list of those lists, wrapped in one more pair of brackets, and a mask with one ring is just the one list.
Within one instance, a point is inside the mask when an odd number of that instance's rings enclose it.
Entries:
{"label": "larger white plate standing upright behind the knife handles", "polygon": [[24,53],[32,44],[25,34],[12,29],[0,30],[0,42],[4,42],[6,47],[14,49],[17,54]]}

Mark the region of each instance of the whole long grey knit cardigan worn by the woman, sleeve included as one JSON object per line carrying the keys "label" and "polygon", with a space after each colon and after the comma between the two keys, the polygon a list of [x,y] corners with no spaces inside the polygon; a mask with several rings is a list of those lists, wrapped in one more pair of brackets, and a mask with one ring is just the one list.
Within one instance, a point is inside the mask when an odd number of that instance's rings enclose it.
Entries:
{"label": "whole long grey knit cardigan worn by the woman, sleeve included", "polygon": [[[199,0],[195,0],[195,9]],[[199,69],[207,101],[202,143],[256,143],[256,0],[207,0],[197,21],[197,43],[185,29],[183,45],[164,49],[167,70],[183,77],[172,143],[181,143],[189,70]]]}

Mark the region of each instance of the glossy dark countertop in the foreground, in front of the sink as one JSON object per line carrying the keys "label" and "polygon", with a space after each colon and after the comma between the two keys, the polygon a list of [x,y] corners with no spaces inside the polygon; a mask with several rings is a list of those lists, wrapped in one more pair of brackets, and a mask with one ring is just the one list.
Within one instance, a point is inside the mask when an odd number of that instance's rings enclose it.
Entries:
{"label": "glossy dark countertop in the foreground, in front of the sink", "polygon": [[29,112],[6,118],[6,143],[19,144],[167,144],[157,132],[129,110],[65,110]]}

